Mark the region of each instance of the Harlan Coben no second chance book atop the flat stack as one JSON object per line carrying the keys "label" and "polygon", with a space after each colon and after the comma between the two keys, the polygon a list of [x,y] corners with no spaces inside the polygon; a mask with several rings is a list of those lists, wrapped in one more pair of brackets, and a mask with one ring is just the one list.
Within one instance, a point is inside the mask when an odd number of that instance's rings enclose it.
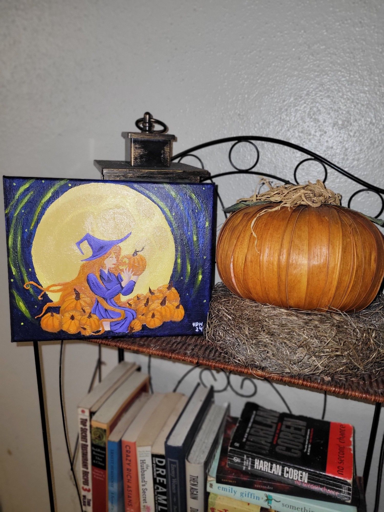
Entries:
{"label": "Harlan Coben no second chance book atop the flat stack", "polygon": [[353,427],[247,402],[229,444],[228,466],[349,503]]}

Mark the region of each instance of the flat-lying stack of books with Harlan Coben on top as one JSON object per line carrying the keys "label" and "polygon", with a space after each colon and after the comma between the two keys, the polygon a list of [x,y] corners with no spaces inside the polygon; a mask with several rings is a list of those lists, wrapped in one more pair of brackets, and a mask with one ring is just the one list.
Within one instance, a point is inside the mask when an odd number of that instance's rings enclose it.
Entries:
{"label": "flat-lying stack of books with Harlan Coben on top", "polygon": [[[210,512],[259,510],[251,506],[279,512],[362,512],[353,427],[247,402],[240,418],[227,418],[207,492]],[[232,500],[232,508],[223,499]]]}

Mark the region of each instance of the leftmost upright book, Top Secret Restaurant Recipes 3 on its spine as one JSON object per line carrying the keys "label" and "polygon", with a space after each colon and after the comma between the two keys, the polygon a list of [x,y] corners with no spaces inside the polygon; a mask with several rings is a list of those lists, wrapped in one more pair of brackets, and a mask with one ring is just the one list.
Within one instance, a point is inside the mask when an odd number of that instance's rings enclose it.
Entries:
{"label": "leftmost upright book, Top Secret Restaurant Recipes 3 on its spine", "polygon": [[81,457],[80,496],[83,512],[92,512],[91,419],[112,393],[139,367],[122,361],[77,406]]}

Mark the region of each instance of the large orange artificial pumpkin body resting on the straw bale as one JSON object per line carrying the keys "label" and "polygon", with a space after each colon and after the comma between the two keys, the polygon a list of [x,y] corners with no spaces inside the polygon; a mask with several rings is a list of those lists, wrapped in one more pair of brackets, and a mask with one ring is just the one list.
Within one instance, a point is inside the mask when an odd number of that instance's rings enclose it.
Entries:
{"label": "large orange artificial pumpkin body resting on the straw bale", "polygon": [[307,310],[359,311],[373,301],[384,276],[384,239],[369,219],[325,204],[256,218],[272,208],[242,208],[221,228],[216,262],[233,293]]}

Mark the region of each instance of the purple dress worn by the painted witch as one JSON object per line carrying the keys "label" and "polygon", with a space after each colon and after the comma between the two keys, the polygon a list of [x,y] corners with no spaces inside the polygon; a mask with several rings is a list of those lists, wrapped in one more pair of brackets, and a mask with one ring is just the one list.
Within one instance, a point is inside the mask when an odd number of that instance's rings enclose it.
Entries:
{"label": "purple dress worn by the painted witch", "polygon": [[107,304],[114,308],[122,309],[125,313],[125,316],[122,320],[118,320],[117,322],[113,322],[113,318],[118,318],[120,314],[117,311],[112,311],[110,309],[104,308],[96,298],[95,304],[92,308],[92,313],[101,318],[111,319],[111,331],[112,332],[128,332],[128,327],[130,323],[136,318],[136,312],[130,308],[124,308],[122,306],[118,306],[114,301],[114,297],[119,295],[130,295],[133,292],[135,287],[135,281],[130,281],[124,287],[121,285],[123,278],[120,274],[116,277],[115,274],[105,270],[100,269],[100,281],[97,279],[95,274],[88,274],[87,283],[91,288],[95,295],[102,297]]}

